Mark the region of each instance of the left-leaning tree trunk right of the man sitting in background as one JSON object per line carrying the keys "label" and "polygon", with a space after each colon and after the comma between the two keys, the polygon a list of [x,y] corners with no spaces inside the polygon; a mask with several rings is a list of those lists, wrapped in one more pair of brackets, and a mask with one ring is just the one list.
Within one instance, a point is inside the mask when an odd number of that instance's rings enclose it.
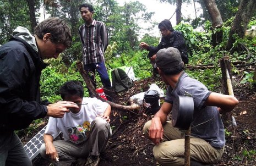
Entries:
{"label": "left-leaning tree trunk right of the man sitting in background", "polygon": [[[215,1],[214,0],[203,0],[203,1],[206,9],[210,14],[211,21],[213,22],[212,24],[213,30],[220,28],[223,25],[223,21]],[[213,35],[211,36],[213,46],[218,45],[222,41],[222,37],[223,37],[222,31],[217,31],[216,33],[213,32]]]}

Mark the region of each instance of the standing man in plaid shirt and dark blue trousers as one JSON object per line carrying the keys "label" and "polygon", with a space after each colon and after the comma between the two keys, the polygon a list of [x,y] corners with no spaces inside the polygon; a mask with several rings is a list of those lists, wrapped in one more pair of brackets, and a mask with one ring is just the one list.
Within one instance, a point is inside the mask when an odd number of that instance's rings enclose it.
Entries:
{"label": "standing man in plaid shirt and dark blue trousers", "polygon": [[94,14],[92,5],[87,3],[80,4],[79,10],[81,17],[85,21],[85,24],[79,27],[80,40],[83,44],[84,70],[93,73],[93,75],[90,75],[90,78],[95,88],[95,70],[97,70],[105,90],[112,91],[104,58],[104,52],[108,45],[106,25],[92,18]]}

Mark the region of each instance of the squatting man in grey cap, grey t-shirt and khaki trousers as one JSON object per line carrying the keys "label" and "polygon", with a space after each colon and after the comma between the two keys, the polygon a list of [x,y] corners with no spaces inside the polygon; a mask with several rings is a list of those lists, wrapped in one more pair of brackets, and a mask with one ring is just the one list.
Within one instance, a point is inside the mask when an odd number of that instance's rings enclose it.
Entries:
{"label": "squatting man in grey cap, grey t-shirt and khaki trousers", "polygon": [[[160,49],[156,66],[167,87],[160,110],[144,125],[144,133],[156,145],[153,153],[161,165],[184,165],[184,132],[167,121],[173,101],[185,93],[194,100],[191,124],[191,165],[207,165],[220,161],[225,146],[225,131],[220,113],[230,112],[239,103],[233,96],[211,92],[183,70],[184,64],[176,48]],[[181,103],[182,104],[182,103]]]}

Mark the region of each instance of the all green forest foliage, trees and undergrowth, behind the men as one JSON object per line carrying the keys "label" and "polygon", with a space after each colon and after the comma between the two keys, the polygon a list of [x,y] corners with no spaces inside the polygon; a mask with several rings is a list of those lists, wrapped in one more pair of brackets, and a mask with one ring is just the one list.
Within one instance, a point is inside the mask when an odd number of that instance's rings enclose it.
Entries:
{"label": "all green forest foliage, trees and undergrowth, behind the men", "polygon": [[[40,15],[39,9],[42,6],[45,7],[47,14],[57,16],[67,21],[72,29],[73,36],[72,47],[62,53],[61,58],[47,60],[47,63],[50,65],[42,71],[40,81],[42,99],[48,99],[51,102],[61,99],[58,96],[58,88],[67,80],[79,80],[84,82],[75,67],[75,62],[82,59],[82,46],[78,35],[78,27],[84,24],[78,10],[78,5],[81,3],[93,4],[95,10],[94,18],[104,21],[108,28],[110,45],[105,52],[107,69],[111,71],[112,69],[126,65],[127,67],[133,67],[135,76],[139,79],[145,79],[152,75],[152,67],[147,58],[148,52],[140,49],[138,45],[140,42],[144,41],[149,45],[156,46],[160,38],[150,36],[149,34],[145,34],[141,37],[139,35],[140,30],[142,30],[140,25],[149,23],[151,26],[144,30],[150,32],[152,27],[158,23],[151,21],[151,16],[154,13],[149,12],[140,2],[126,2],[123,5],[119,5],[115,0],[33,1],[35,2],[35,14],[37,16]],[[159,1],[159,3],[161,2],[176,3],[176,1],[173,0]],[[215,68],[204,70],[186,70],[187,73],[193,78],[203,82],[210,90],[217,91],[220,87],[221,80],[221,71],[218,67],[220,58],[230,56],[232,62],[244,60],[248,56],[247,50],[236,49],[238,46],[243,45],[244,48],[248,48],[250,52],[250,58],[247,59],[247,62],[255,62],[256,38],[250,36],[238,38],[235,35],[236,42],[233,45],[235,49],[232,49],[232,51],[226,50],[225,45],[228,40],[228,33],[239,3],[230,0],[215,1],[225,23],[221,29],[217,29],[223,32],[223,40],[219,45],[214,47],[211,43],[211,35],[213,35],[213,31],[211,30],[212,23],[209,21],[207,10],[204,8],[203,1],[197,0],[195,2],[202,4],[202,18],[198,20],[183,18],[182,23],[175,26],[175,30],[181,31],[186,39],[186,45],[189,50],[188,65],[211,64],[215,66]],[[183,1],[183,3],[192,3],[192,1],[186,0]],[[194,24],[195,22],[197,22],[197,24]],[[204,31],[195,31],[194,28],[198,25],[203,27]],[[256,25],[255,14],[249,22],[248,28],[252,25]],[[17,26],[24,26],[30,29],[28,4],[23,0],[0,0],[0,45],[8,41],[12,36],[12,31]],[[214,30],[214,32],[216,32],[216,30]],[[239,73],[235,67],[233,67],[232,71],[233,73]],[[249,83],[253,86],[255,82],[253,76],[254,72],[244,73],[244,78],[241,83]],[[102,86],[99,76],[97,75],[96,80],[98,86]],[[86,95],[88,95],[86,88],[85,91]]]}

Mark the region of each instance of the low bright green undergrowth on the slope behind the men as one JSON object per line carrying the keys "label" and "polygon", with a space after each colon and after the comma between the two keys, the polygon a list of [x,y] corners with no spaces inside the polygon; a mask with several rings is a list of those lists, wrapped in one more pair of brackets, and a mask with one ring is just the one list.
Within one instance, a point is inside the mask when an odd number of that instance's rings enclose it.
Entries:
{"label": "low bright green undergrowth on the slope behind the men", "polygon": [[[253,21],[256,23],[255,20]],[[254,23],[250,23],[249,25],[254,25]],[[181,23],[175,26],[175,30],[181,31],[184,38],[186,38],[186,45],[189,49],[188,65],[211,64],[215,66],[215,68],[211,69],[186,70],[186,72],[192,76],[192,78],[203,82],[203,84],[208,87],[209,90],[219,91],[221,81],[221,69],[218,66],[219,60],[223,56],[227,55],[231,57],[232,61],[243,60],[247,56],[247,52],[235,51],[231,54],[231,52],[225,50],[228,30],[230,29],[228,26],[224,26],[221,29],[224,32],[224,40],[219,45],[213,47],[211,45],[211,35],[213,32],[210,30],[210,25],[210,21],[205,22],[204,32],[194,31],[193,27],[186,23]],[[157,45],[159,38],[151,37],[146,34],[139,42],[142,41],[148,42],[151,45]],[[236,47],[239,43],[246,45],[252,54],[252,56],[248,59],[248,62],[254,62],[256,58],[255,38],[237,38],[236,43],[234,43],[234,47]],[[127,67],[133,67],[134,74],[138,79],[145,79],[152,75],[152,66],[147,58],[148,51],[137,47],[133,50],[130,49],[129,51],[124,51],[116,56],[118,47],[119,45],[116,42],[112,42],[112,44],[107,47],[105,58],[108,70],[126,65]],[[47,63],[50,63],[50,65],[43,70],[41,77],[41,91],[43,99],[48,99],[51,102],[61,99],[58,96],[58,88],[68,80],[79,80],[84,82],[75,67],[75,62],[73,62],[70,67],[67,67],[63,63],[62,58],[48,60]],[[236,68],[233,68],[232,72],[236,74]],[[245,73],[244,79],[241,81],[241,83],[245,84],[250,82],[254,84],[252,79],[253,74],[253,72]],[[98,82],[98,86],[102,86],[99,76],[96,76],[96,80]],[[86,85],[84,85],[84,87],[86,87]],[[85,91],[86,95],[88,95],[86,88]]]}

